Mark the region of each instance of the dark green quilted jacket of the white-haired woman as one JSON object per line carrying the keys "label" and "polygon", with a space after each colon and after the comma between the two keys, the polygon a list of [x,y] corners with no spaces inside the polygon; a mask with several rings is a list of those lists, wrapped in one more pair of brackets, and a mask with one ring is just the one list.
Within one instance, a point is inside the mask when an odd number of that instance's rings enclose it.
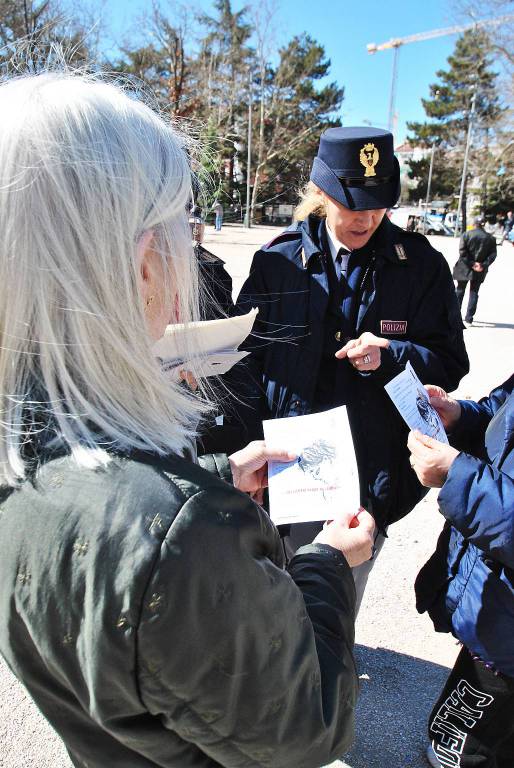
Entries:
{"label": "dark green quilted jacket of the white-haired woman", "polygon": [[345,559],[311,545],[285,570],[204,464],[54,458],[1,498],[0,650],[79,768],[314,768],[350,744]]}

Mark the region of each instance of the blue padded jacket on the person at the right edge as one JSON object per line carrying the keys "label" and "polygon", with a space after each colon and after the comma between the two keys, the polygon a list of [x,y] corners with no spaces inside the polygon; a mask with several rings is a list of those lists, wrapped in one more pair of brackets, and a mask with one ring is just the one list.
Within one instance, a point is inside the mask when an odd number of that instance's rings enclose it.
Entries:
{"label": "blue padded jacket on the person at the right edge", "polygon": [[446,525],[416,581],[439,632],[514,677],[514,376],[463,401],[451,441],[462,452],[439,494]]}

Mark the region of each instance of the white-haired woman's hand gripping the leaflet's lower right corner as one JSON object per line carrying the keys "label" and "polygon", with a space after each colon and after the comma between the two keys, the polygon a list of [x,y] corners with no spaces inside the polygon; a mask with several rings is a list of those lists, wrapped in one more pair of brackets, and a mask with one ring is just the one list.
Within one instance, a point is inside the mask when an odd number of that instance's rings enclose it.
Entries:
{"label": "white-haired woman's hand gripping the leaflet's lower right corner", "polygon": [[325,525],[314,541],[338,549],[346,558],[350,568],[365,563],[373,554],[375,521],[365,509],[344,512]]}

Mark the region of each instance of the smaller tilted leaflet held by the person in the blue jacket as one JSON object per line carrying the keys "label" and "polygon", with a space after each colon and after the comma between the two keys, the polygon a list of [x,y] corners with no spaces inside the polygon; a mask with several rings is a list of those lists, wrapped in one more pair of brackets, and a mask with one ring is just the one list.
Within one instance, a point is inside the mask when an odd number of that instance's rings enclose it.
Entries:
{"label": "smaller tilted leaflet held by the person in the blue jacket", "polygon": [[385,385],[385,390],[410,429],[417,429],[441,443],[448,442],[443,422],[410,363]]}

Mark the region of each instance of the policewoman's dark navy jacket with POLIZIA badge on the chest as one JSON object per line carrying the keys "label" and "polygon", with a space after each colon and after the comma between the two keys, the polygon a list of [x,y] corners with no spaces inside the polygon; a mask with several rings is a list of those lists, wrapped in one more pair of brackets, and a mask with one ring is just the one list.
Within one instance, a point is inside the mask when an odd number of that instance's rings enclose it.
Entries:
{"label": "policewoman's dark navy jacket with POLIZIA badge on the chest", "polygon": [[[247,437],[260,436],[265,418],[313,409],[324,343],[328,278],[319,242],[320,220],[310,216],[257,251],[237,300],[237,311],[259,308],[247,343],[244,381],[238,389]],[[365,252],[364,254],[362,252]],[[354,433],[361,501],[383,528],[409,512],[423,495],[408,461],[407,427],[384,390],[407,361],[425,383],[457,387],[469,369],[462,321],[448,265],[422,235],[387,217],[360,256],[368,268],[359,286],[352,335],[371,331],[390,339],[371,374],[354,371],[345,396]],[[344,338],[334,339],[334,353]]]}

